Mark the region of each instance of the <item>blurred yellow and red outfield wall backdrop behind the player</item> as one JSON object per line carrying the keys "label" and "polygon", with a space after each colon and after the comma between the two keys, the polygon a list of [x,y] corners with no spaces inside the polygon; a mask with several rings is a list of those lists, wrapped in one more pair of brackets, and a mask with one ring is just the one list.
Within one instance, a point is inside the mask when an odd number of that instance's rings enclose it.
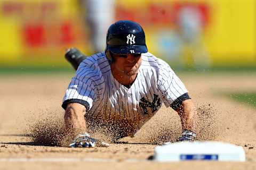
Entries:
{"label": "blurred yellow and red outfield wall backdrop behind the player", "polygon": [[140,23],[149,52],[176,70],[256,70],[255,8],[255,0],[0,0],[0,72],[71,69],[65,50],[104,50],[121,19]]}

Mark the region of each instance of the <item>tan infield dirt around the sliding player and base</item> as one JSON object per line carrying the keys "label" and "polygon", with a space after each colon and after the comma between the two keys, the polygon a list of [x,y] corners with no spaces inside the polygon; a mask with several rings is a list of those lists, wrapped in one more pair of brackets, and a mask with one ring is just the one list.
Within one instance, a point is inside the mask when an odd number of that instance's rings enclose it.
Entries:
{"label": "tan infield dirt around the sliding player and base", "polygon": [[[70,78],[70,74],[1,75],[0,168],[256,169],[256,111],[223,95],[255,91],[255,73],[180,75],[201,115],[199,139],[243,146],[245,163],[146,161],[157,144],[175,140],[181,132],[179,116],[164,106],[134,138],[121,140],[127,143],[115,143],[109,148],[47,146],[62,142],[60,105]],[[21,158],[27,162],[19,162]],[[66,162],[64,158],[68,158]],[[91,158],[100,162],[89,161]],[[103,162],[106,159],[110,162]],[[131,159],[137,162],[128,162]]]}

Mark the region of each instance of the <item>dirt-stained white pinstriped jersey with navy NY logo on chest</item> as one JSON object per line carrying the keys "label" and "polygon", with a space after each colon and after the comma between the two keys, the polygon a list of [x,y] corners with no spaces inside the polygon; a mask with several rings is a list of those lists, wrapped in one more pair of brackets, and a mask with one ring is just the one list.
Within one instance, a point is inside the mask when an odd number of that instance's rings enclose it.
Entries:
{"label": "dirt-stained white pinstriped jersey with navy NY logo on chest", "polygon": [[[63,102],[83,101],[87,122],[129,126],[134,134],[162,106],[169,107],[188,91],[170,66],[150,53],[141,55],[137,78],[130,88],[112,75],[105,53],[87,57],[78,67]],[[126,122],[126,124],[123,124]],[[128,133],[128,132],[127,132]]]}

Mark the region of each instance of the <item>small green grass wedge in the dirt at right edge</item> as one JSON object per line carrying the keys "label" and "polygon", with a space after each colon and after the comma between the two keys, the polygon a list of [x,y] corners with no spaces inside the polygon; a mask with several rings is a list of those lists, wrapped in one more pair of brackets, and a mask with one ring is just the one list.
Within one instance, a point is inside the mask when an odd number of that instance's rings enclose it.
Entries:
{"label": "small green grass wedge in the dirt at right edge", "polygon": [[256,108],[256,92],[231,94],[230,98]]}

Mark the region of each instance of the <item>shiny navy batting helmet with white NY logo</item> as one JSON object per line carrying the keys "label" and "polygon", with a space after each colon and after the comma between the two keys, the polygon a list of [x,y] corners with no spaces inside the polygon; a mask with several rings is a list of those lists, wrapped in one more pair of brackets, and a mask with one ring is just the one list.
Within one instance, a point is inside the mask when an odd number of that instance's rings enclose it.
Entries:
{"label": "shiny navy batting helmet with white NY logo", "polygon": [[105,53],[109,60],[111,54],[141,54],[147,53],[145,33],[142,27],[133,21],[121,20],[110,25]]}

